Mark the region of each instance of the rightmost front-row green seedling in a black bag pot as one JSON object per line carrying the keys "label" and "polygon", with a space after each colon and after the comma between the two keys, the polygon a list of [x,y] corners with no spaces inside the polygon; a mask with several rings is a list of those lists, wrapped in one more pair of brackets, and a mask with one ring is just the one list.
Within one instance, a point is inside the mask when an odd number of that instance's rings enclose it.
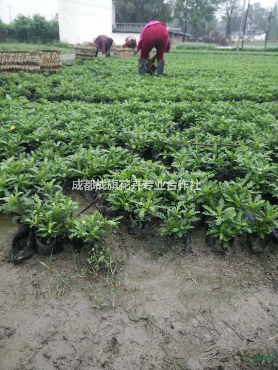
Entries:
{"label": "rightmost front-row green seedling in a black bag pot", "polygon": [[246,210],[252,216],[249,219],[251,229],[249,243],[254,252],[266,252],[271,242],[272,232],[278,227],[278,206],[264,201],[261,194],[248,197]]}

